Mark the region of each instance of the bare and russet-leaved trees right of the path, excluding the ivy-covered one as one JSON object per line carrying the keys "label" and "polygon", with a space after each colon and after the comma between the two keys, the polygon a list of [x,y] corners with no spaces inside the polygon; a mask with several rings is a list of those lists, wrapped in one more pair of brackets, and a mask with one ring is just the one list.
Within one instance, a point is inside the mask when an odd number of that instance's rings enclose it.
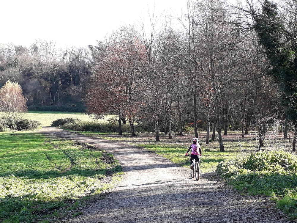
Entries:
{"label": "bare and russet-leaved trees right of the path, excluding the ivy-covered one", "polygon": [[[262,12],[256,14],[253,2],[230,7],[218,0],[189,1],[187,13],[177,19],[180,29],[155,15],[149,27],[122,26],[92,48],[88,112],[118,114],[119,129],[126,117],[132,136],[133,120],[154,123],[156,141],[160,125],[171,138],[173,126],[182,135],[185,120],[193,120],[198,137],[202,120],[206,143],[211,129],[212,137],[217,131],[221,151],[229,128],[241,128],[244,137],[253,126],[261,149],[270,124],[282,120],[287,129],[289,123],[284,121],[289,106],[281,104],[283,92],[271,75],[273,64],[255,20],[266,15],[267,2],[259,3]],[[292,126],[296,118],[288,120]]]}

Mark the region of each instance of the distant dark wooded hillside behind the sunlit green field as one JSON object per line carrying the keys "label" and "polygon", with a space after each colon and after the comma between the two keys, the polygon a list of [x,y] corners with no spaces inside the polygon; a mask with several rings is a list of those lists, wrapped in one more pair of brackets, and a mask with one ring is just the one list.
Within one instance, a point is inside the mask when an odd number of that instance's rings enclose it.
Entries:
{"label": "distant dark wooded hillside behind the sunlit green field", "polygon": [[[0,86],[18,82],[29,109],[84,111],[84,90],[91,74],[88,48],[58,48],[54,41],[36,40],[29,48],[0,45]],[[63,107],[63,108],[61,108]]]}

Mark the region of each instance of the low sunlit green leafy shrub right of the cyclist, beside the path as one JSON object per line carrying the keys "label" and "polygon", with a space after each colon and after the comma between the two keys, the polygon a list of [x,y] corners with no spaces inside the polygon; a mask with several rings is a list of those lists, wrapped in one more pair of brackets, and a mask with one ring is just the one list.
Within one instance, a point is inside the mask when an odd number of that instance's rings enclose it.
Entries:
{"label": "low sunlit green leafy shrub right of the cyclist, beside the path", "polygon": [[269,196],[290,219],[297,218],[297,161],[284,151],[260,151],[219,163],[217,172],[239,191]]}

